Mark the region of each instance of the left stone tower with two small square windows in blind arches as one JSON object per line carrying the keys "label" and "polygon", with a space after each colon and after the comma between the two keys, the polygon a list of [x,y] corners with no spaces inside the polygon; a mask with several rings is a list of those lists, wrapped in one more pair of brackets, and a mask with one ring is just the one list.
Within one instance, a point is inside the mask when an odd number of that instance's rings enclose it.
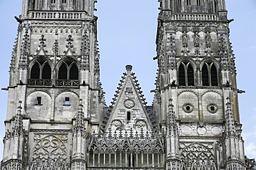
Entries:
{"label": "left stone tower with two small square windows in blind arches", "polygon": [[23,1],[1,169],[86,169],[104,109],[94,3]]}

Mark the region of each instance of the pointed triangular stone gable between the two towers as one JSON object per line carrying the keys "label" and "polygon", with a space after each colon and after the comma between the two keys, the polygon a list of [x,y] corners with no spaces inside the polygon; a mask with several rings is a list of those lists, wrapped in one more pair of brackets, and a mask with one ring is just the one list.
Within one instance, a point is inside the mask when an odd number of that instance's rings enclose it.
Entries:
{"label": "pointed triangular stone gable between the two towers", "polygon": [[[118,90],[113,98],[107,126],[104,131],[133,130],[152,131],[153,126],[147,113],[145,98],[143,98],[136,76],[131,72],[132,66],[127,65],[127,72],[120,80]],[[154,123],[154,121],[153,121]]]}

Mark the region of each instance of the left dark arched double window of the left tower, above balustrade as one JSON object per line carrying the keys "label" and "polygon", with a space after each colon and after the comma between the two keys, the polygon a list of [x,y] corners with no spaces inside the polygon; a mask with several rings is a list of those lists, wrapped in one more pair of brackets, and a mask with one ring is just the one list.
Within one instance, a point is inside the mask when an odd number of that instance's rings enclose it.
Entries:
{"label": "left dark arched double window of the left tower, above balustrade", "polygon": [[47,61],[36,61],[30,70],[31,79],[51,79],[51,67]]}

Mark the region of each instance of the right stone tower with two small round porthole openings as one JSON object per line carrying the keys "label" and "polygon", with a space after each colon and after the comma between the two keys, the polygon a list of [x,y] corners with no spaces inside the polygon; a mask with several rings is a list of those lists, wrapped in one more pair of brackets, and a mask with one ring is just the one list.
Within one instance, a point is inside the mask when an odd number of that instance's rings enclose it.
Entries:
{"label": "right stone tower with two small round porthole openings", "polygon": [[160,0],[154,115],[166,169],[246,169],[225,3]]}

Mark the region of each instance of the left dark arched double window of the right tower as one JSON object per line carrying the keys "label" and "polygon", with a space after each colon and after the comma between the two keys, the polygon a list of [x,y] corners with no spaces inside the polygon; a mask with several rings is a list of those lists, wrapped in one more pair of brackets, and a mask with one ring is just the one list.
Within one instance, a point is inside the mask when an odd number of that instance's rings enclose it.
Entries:
{"label": "left dark arched double window of the right tower", "polygon": [[179,85],[194,86],[194,69],[190,62],[181,62],[179,66]]}

